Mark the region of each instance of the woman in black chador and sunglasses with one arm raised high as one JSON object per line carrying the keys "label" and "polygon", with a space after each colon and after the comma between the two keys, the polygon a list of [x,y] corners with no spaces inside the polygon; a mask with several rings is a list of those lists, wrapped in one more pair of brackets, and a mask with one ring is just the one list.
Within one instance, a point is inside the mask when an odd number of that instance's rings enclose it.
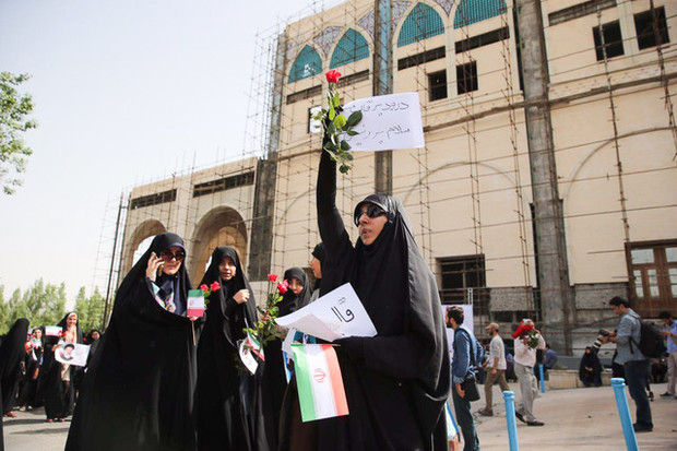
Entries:
{"label": "woman in black chador and sunglasses with one arm raised high", "polygon": [[[326,152],[317,195],[326,257],[321,294],[349,282],[378,334],[335,342],[351,413],[314,422],[312,448],[430,450],[433,431],[446,447],[444,417],[438,423],[451,376],[444,322],[435,277],[402,204],[387,194],[359,202],[353,246],[335,205],[336,164]],[[293,440],[289,449],[297,449]]]}

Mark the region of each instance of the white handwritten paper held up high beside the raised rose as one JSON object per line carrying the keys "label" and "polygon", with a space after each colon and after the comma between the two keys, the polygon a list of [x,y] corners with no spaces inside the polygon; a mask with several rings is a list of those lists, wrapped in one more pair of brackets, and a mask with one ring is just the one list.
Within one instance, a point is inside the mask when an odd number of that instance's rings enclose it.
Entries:
{"label": "white handwritten paper held up high beside the raised rose", "polygon": [[343,135],[353,152],[394,151],[425,147],[418,93],[399,93],[353,100],[343,107],[347,118],[361,111],[363,119],[353,130],[355,137]]}

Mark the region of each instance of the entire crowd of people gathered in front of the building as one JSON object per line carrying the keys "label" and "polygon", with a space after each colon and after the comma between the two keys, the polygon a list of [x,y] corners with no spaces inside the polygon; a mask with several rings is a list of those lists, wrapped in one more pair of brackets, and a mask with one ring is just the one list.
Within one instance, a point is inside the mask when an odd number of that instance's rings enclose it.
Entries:
{"label": "entire crowd of people gathered in front of the building", "polygon": [[[200,285],[217,283],[218,288],[206,295],[204,316],[188,316],[193,284],[186,245],[173,233],[157,235],[126,275],[105,334],[94,330],[83,335],[75,312],[59,322],[56,335],[44,327],[28,334],[28,321],[16,321],[0,347],[3,413],[44,405],[47,422],[72,414],[67,451],[446,450],[450,418],[444,406],[450,400],[464,449],[479,450],[471,410],[479,399],[477,372],[485,373],[486,404],[479,414],[492,416],[492,387],[509,390],[506,376],[512,367],[520,388],[516,418],[544,426],[534,411],[534,369],[538,352],[546,368],[553,368],[557,356],[534,322],[522,320],[512,333],[514,357],[507,353],[500,325],[488,324],[485,353],[464,325],[462,308],[442,313],[435,277],[402,204],[385,194],[359,202],[354,211],[359,238],[353,244],[335,197],[336,164],[322,153],[317,187],[322,244],[310,261],[317,282],[310,286],[304,270],[287,269],[288,290],[277,309],[280,316],[289,314],[352,284],[378,334],[334,342],[349,415],[302,422],[295,375],[287,380],[282,329],[265,345],[265,358],[253,373],[241,365],[238,343],[259,311],[235,249],[213,250]],[[632,341],[639,343],[638,317],[625,299],[611,299],[611,308],[620,324],[599,345],[616,342],[616,360],[637,403],[636,430],[651,430],[643,385],[646,358],[630,348]],[[665,395],[674,396],[677,329],[669,316],[665,323],[672,328],[666,332],[672,376]],[[454,331],[451,361],[447,327]],[[57,360],[59,342],[90,344],[86,366]],[[598,385],[599,372],[590,347],[580,377]]]}

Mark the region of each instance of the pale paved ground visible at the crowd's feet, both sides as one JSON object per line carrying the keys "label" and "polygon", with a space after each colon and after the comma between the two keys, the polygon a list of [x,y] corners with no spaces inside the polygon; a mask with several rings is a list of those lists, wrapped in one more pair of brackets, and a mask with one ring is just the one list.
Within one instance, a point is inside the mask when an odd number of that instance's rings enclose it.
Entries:
{"label": "pale paved ground visible at the crowd's feet, both sides", "polygon": [[[516,384],[511,383],[513,389]],[[665,384],[652,387],[663,393]],[[480,391],[483,388],[480,387]],[[479,443],[484,451],[508,450],[506,415],[502,395],[495,387],[495,416],[477,417]],[[519,394],[518,394],[519,397]],[[500,402],[500,404],[499,404]],[[473,411],[484,401],[473,403]],[[631,408],[634,408],[630,401]],[[677,449],[677,400],[656,397],[651,403],[654,431],[638,435],[641,450]],[[553,390],[536,400],[535,414],[544,427],[527,427],[518,422],[521,451],[604,451],[623,450],[625,441],[616,402],[610,387],[598,389]],[[43,410],[17,412],[17,418],[4,418],[7,451],[62,451],[70,423],[45,423]],[[632,412],[634,416],[634,413]],[[122,450],[121,450],[122,451]],[[124,450],[127,451],[127,450]]]}

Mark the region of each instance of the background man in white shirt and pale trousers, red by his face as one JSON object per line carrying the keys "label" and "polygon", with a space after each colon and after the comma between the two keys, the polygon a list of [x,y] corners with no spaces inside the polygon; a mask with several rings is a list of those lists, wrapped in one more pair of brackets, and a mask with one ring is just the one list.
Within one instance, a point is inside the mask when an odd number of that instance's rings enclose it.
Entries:
{"label": "background man in white shirt and pale trousers, red by his face", "polygon": [[[522,320],[523,325],[534,324],[530,319]],[[514,336],[514,335],[513,335]],[[538,395],[538,385],[534,376],[534,365],[536,364],[536,349],[545,349],[545,340],[541,332],[536,330],[538,345],[530,347],[526,344],[528,336],[515,337],[514,340],[514,373],[520,382],[522,401],[518,403],[515,416],[527,426],[543,426],[544,423],[534,416],[534,400]]]}

